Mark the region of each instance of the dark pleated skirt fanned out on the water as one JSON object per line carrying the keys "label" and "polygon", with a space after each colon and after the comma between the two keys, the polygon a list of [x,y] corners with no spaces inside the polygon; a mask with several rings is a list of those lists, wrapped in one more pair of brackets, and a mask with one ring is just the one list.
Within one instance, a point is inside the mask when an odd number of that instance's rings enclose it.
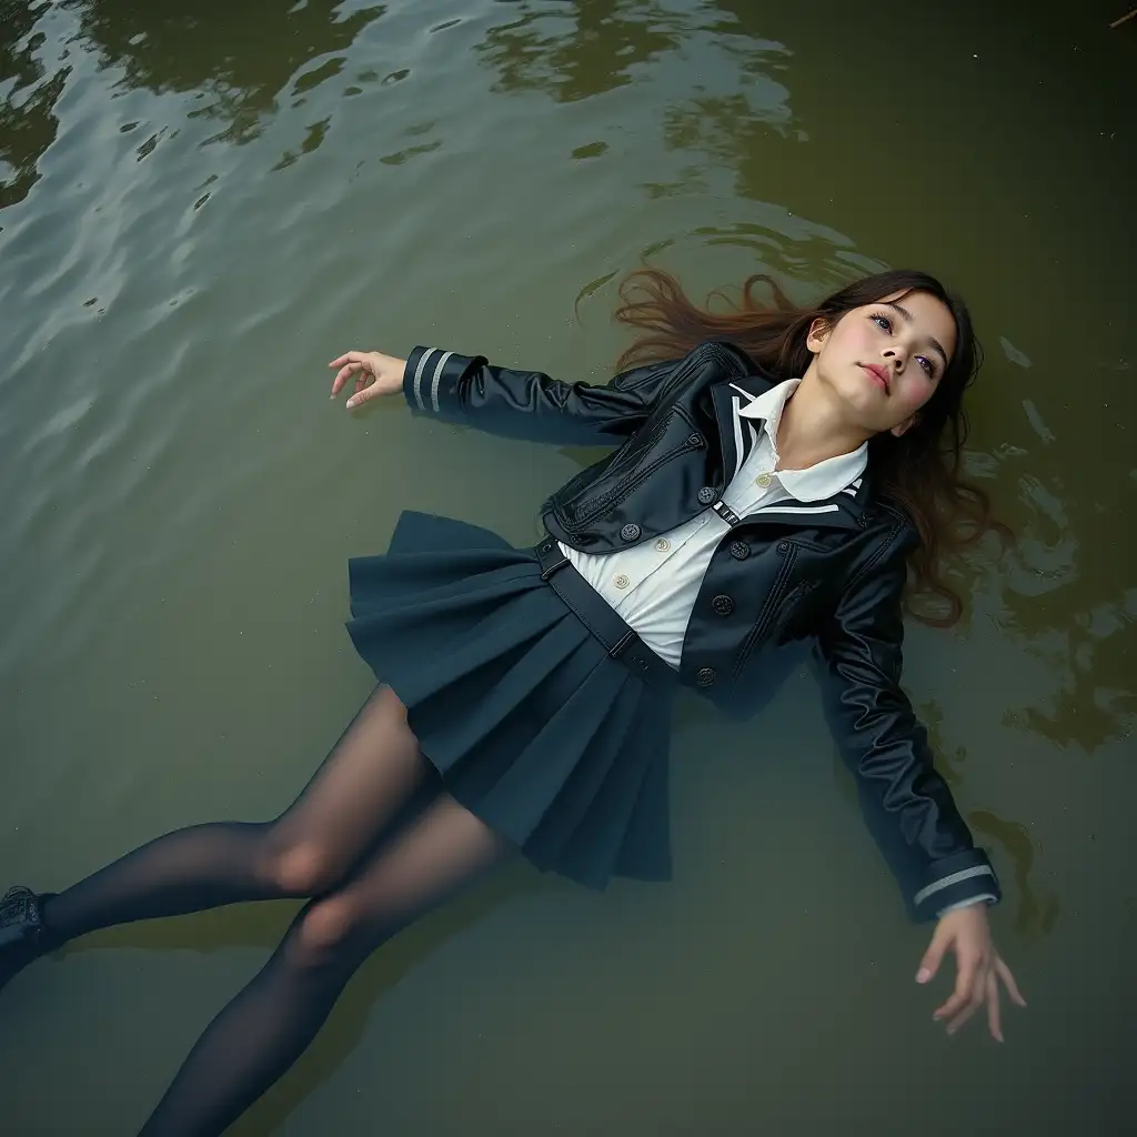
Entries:
{"label": "dark pleated skirt fanned out on the water", "polygon": [[404,513],[385,555],[349,562],[348,631],[446,789],[539,869],[665,880],[673,686],[642,645],[639,667],[613,654],[630,629],[571,566],[542,576],[551,548]]}

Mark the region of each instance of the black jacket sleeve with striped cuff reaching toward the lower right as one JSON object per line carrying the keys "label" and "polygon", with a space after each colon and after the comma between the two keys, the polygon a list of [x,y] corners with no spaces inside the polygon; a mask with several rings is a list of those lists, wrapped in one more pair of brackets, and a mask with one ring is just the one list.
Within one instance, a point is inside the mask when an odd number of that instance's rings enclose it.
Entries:
{"label": "black jacket sleeve with striped cuff reaching toward the lower right", "polygon": [[928,732],[901,689],[905,529],[853,580],[819,637],[827,716],[856,782],[869,829],[910,913],[929,920],[978,901],[998,880],[936,772]]}

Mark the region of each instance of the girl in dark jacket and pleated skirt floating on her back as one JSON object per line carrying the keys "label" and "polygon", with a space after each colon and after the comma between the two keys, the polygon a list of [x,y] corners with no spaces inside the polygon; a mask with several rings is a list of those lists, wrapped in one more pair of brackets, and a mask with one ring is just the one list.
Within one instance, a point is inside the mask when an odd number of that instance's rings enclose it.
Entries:
{"label": "girl in dark jacket and pleated skirt floating on her back", "polygon": [[[310,898],[143,1134],[223,1130],[371,952],[511,850],[597,888],[666,878],[677,686],[746,715],[771,654],[800,639],[905,901],[938,921],[916,980],[956,956],[935,1016],[954,1031],[986,1006],[1002,1037],[999,985],[1022,997],[988,927],[998,883],[899,687],[908,582],[957,616],[937,561],[961,524],[989,526],[958,473],[971,322],[923,273],[807,309],[777,288],[763,307],[757,280],[724,314],[636,274],[619,316],[640,338],[606,387],[428,348],[332,362],[348,407],[401,390],[420,414],[614,449],[545,503],[533,548],[408,513],[385,556],[351,562],[348,629],[379,687],[275,821],[167,833],[57,895],[9,890],[0,985],[97,928]],[[428,778],[432,803],[388,833]]]}

